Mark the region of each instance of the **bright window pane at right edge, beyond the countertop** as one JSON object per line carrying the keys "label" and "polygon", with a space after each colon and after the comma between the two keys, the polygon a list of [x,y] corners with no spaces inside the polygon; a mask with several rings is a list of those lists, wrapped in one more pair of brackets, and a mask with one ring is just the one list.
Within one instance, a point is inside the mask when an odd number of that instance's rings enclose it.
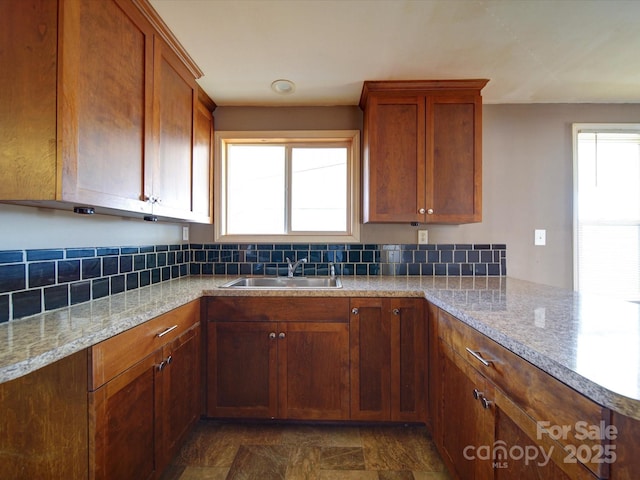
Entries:
{"label": "bright window pane at right edge, beyond the countertop", "polygon": [[640,300],[640,134],[579,132],[576,283]]}

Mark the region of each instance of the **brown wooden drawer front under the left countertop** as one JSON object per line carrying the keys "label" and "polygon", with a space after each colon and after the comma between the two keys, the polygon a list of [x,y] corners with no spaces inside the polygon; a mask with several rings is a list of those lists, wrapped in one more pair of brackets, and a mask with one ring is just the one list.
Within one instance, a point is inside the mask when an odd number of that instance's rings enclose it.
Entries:
{"label": "brown wooden drawer front under the left countertop", "polygon": [[145,322],[89,349],[89,389],[95,390],[116,375],[175,340],[199,321],[200,301]]}

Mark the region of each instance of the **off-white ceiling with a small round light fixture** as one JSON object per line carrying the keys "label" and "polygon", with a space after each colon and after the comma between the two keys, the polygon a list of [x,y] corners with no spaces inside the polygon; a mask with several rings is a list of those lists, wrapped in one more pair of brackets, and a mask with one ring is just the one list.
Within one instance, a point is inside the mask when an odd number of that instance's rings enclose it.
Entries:
{"label": "off-white ceiling with a small round light fixture", "polygon": [[[485,103],[640,103],[640,0],[150,0],[222,105],[357,105],[488,78]],[[296,91],[281,96],[273,80]]]}

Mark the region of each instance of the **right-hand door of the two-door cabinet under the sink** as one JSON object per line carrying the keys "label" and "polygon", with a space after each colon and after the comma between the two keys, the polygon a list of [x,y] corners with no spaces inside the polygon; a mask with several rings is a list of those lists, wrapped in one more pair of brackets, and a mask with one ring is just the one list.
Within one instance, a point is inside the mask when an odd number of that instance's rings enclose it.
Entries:
{"label": "right-hand door of the two-door cabinet under the sink", "polygon": [[279,417],[348,419],[349,325],[282,322],[278,337]]}

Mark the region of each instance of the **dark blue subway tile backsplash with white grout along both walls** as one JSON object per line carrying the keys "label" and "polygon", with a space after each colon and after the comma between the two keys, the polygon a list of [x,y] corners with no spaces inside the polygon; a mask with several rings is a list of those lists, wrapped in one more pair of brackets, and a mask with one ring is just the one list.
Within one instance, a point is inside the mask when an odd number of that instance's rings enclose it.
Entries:
{"label": "dark blue subway tile backsplash with white grout along both walls", "polygon": [[0,322],[185,275],[505,276],[504,244],[175,244],[0,251]]}

